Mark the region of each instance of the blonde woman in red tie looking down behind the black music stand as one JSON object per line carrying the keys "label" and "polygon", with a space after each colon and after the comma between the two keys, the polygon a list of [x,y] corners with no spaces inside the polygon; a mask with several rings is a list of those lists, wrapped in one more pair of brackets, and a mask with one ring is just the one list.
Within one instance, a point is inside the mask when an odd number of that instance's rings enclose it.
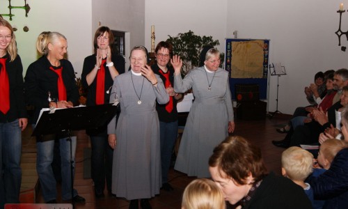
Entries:
{"label": "blonde woman in red tie looking down behind the black music stand", "polygon": [[[36,48],[42,54],[37,61],[29,65],[25,76],[25,95],[29,104],[35,107],[33,123],[38,121],[42,108],[69,108],[78,103],[79,91],[75,82],[74,68],[64,59],[68,42],[61,33],[42,32],[38,36]],[[35,126],[35,124],[33,124]],[[84,202],[85,199],[73,191],[70,175],[70,153],[74,161],[76,137],[72,137],[72,151],[67,136],[56,136],[61,154],[62,199]],[[56,203],[56,180],[52,171],[54,140],[37,139],[38,156],[36,170],[40,180],[42,196],[46,203]],[[74,167],[74,164],[73,164]],[[74,172],[74,171],[73,171]]]}

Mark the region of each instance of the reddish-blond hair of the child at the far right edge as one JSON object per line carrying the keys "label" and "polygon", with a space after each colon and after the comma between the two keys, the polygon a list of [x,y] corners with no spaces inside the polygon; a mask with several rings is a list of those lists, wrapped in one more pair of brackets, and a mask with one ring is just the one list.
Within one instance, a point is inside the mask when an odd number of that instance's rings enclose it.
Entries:
{"label": "reddish-blond hair of the child at the far right edge", "polygon": [[347,148],[347,142],[339,139],[327,139],[320,146],[320,153],[324,155],[324,158],[331,164],[336,154],[344,148]]}

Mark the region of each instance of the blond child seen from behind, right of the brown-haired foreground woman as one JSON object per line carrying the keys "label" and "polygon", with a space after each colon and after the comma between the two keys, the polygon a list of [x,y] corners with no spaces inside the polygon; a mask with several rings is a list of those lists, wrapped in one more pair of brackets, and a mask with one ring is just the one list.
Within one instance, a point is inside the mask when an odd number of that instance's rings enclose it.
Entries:
{"label": "blond child seen from behind, right of the brown-haired foreground woman", "polygon": [[313,189],[304,180],[313,172],[313,155],[297,146],[287,148],[282,154],[282,174],[301,186],[314,209],[322,208],[324,201],[315,201]]}

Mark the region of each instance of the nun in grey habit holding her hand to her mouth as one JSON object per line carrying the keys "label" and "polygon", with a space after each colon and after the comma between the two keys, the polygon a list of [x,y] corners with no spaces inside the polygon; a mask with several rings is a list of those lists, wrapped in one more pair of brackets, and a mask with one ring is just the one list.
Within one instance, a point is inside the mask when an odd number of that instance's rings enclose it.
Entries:
{"label": "nun in grey habit holding her hand to her mouth", "polygon": [[[130,201],[129,208],[151,208],[148,199],[159,194],[161,157],[159,146],[159,104],[169,101],[159,77],[146,65],[147,50],[136,46],[130,53],[131,70],[115,78],[111,92],[120,98],[120,116],[108,125],[113,152],[112,192]],[[117,135],[117,145],[116,145]]]}

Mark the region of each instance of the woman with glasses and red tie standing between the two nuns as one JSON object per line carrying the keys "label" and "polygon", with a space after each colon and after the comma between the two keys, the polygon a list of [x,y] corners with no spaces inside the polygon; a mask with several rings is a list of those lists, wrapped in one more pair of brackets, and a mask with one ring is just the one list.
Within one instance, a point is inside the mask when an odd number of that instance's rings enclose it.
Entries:
{"label": "woman with glasses and red tie standing between the two nuns", "polygon": [[166,104],[156,105],[159,117],[159,130],[161,135],[161,170],[162,170],[162,187],[166,191],[173,190],[168,183],[168,171],[171,166],[171,156],[177,138],[177,100],[182,98],[182,94],[174,91],[174,69],[168,65],[173,55],[173,46],[169,42],[161,41],[155,49],[156,62],[151,66],[153,72],[161,77],[169,102]]}

